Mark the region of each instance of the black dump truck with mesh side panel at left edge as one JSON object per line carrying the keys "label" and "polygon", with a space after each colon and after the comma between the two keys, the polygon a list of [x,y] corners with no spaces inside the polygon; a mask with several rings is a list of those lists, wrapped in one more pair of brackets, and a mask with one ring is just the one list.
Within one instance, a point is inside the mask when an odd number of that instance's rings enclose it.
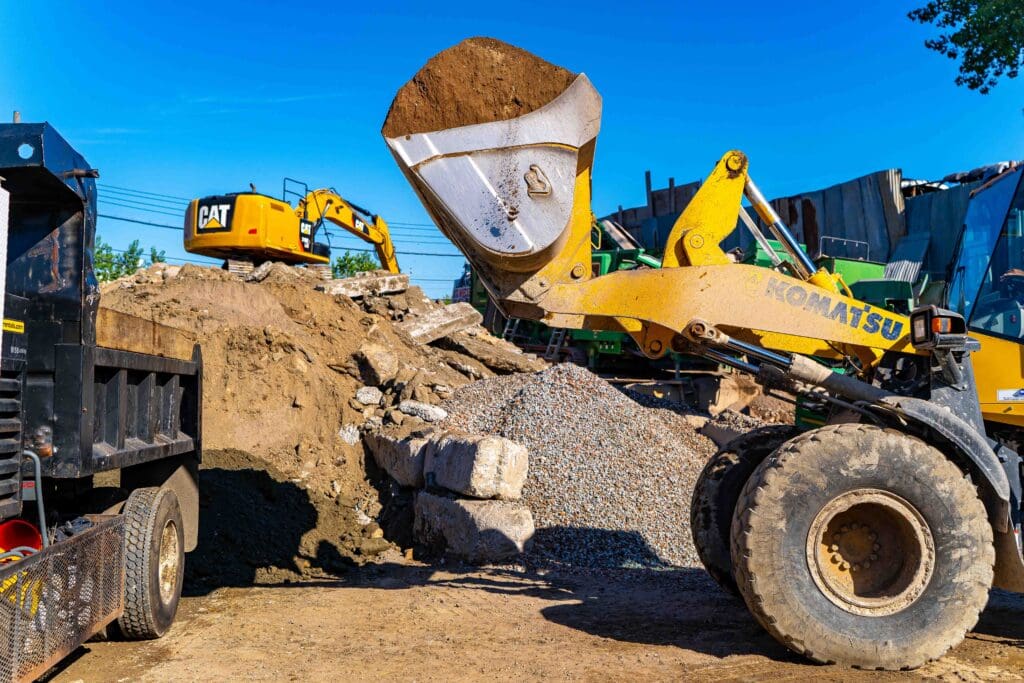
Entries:
{"label": "black dump truck with mesh side panel at left edge", "polygon": [[0,125],[0,680],[174,621],[199,528],[200,347],[103,308],[98,173]]}

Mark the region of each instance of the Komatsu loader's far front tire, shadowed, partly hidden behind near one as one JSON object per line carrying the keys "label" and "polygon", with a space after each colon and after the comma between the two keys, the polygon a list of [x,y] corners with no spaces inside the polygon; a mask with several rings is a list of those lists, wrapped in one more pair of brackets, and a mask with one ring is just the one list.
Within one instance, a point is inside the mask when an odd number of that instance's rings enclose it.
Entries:
{"label": "Komatsu loader's far front tire, shadowed, partly hidden behind near one", "polygon": [[757,466],[799,433],[792,425],[768,425],[741,434],[722,446],[697,477],[690,501],[693,546],[712,579],[733,595],[739,595],[729,548],[736,501]]}

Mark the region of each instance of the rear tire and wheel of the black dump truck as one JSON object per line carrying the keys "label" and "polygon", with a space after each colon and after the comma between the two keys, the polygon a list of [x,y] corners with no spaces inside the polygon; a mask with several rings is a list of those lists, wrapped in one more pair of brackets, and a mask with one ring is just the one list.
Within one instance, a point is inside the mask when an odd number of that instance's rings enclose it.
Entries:
{"label": "rear tire and wheel of the black dump truck", "polygon": [[178,499],[169,488],[136,488],[125,517],[125,609],[118,618],[128,640],[159,638],[174,623],[184,577]]}

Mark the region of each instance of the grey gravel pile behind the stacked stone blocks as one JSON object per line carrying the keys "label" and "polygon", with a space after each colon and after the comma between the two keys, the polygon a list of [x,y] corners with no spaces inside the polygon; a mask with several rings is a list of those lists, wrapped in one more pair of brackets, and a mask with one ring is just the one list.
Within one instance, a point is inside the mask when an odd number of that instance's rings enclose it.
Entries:
{"label": "grey gravel pile behind the stacked stone blocks", "polygon": [[586,567],[699,566],[690,493],[714,444],[677,413],[645,408],[572,365],[459,389],[443,427],[529,450],[531,559]]}

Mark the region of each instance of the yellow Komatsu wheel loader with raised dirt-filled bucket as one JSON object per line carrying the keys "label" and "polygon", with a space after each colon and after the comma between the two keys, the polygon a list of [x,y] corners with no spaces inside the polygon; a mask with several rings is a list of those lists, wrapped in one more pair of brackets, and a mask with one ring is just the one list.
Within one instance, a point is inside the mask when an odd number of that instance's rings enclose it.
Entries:
{"label": "yellow Komatsu wheel loader with raised dirt-filled bucket", "polygon": [[[445,105],[460,111],[471,96],[457,90]],[[506,315],[624,332],[651,358],[693,353],[827,405],[820,427],[763,428],[709,461],[692,505],[701,560],[773,637],[814,661],[902,670],[942,656],[977,623],[990,588],[1024,592],[1015,336],[1024,171],[991,181],[977,215],[969,210],[968,221],[990,227],[953,279],[963,305],[902,315],[815,266],[739,151],[679,216],[660,268],[595,274],[600,120],[601,97],[580,74],[514,118],[391,126],[385,140]],[[735,263],[720,246],[744,200],[785,249],[774,268]]]}

